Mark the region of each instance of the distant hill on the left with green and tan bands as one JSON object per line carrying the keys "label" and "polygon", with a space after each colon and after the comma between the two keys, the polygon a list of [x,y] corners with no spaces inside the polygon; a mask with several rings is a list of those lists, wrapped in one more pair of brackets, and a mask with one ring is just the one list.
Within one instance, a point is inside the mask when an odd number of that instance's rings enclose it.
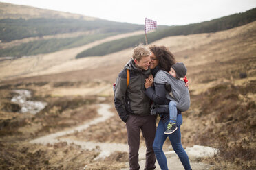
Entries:
{"label": "distant hill on the left with green and tan bands", "polygon": [[[51,53],[86,45],[108,36],[144,29],[143,25],[119,23],[10,3],[0,3],[0,16],[0,57],[19,58]],[[65,36],[56,38],[63,34]]]}

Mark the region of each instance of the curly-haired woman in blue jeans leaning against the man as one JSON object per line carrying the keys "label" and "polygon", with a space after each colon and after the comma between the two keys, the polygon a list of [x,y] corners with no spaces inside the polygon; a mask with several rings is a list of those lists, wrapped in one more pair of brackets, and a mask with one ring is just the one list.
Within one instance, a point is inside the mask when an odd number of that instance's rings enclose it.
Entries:
{"label": "curly-haired woman in blue jeans leaning against the man", "polygon": [[[156,73],[159,70],[169,71],[171,68],[171,65],[175,64],[175,58],[173,54],[167,49],[167,47],[151,46],[149,47],[149,49],[151,51],[150,69],[153,77],[158,76]],[[145,83],[145,88],[146,88],[145,94],[147,95],[147,97],[153,100],[154,104],[168,105],[170,100],[165,97],[166,94],[169,93],[165,88],[166,85],[157,84],[155,82],[154,87],[152,87],[153,77],[149,77],[149,80],[147,80]],[[191,165],[189,163],[189,157],[187,156],[186,151],[184,151],[181,144],[180,125],[182,124],[182,114],[178,110],[178,116],[177,116],[178,129],[175,132],[173,132],[173,134],[169,134],[169,135],[164,134],[164,131],[167,129],[167,124],[169,123],[169,109],[167,108],[166,111],[161,112],[159,116],[160,116],[160,121],[158,123],[155,140],[153,142],[153,150],[155,151],[156,158],[158,160],[158,164],[160,165],[161,169],[162,170],[168,169],[167,158],[165,157],[164,151],[162,150],[162,146],[164,145],[164,141],[166,140],[167,137],[171,141],[173,150],[180,158],[180,161],[182,162],[184,169],[191,169]]]}

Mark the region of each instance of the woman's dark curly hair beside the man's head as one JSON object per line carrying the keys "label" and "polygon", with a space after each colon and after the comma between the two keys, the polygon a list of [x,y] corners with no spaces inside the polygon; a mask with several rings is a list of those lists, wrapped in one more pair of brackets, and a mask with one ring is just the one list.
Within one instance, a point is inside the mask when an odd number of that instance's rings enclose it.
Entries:
{"label": "woman's dark curly hair beside the man's head", "polygon": [[155,54],[156,58],[159,60],[158,66],[164,71],[170,71],[171,66],[176,63],[175,58],[171,51],[165,46],[151,45],[149,47],[150,51]]}

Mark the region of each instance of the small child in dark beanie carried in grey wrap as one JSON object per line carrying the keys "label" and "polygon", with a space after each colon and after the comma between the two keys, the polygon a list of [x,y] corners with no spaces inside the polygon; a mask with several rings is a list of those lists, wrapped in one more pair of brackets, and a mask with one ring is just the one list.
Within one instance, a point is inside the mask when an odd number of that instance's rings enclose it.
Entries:
{"label": "small child in dark beanie carried in grey wrap", "polygon": [[[172,77],[175,77],[175,79],[171,79],[171,82],[180,81],[180,78],[184,78],[184,82],[187,82],[186,66],[182,62],[177,62],[176,64],[173,64],[171,66],[169,74]],[[179,108],[178,106],[181,107],[180,110],[182,112],[188,110],[190,106],[189,90],[187,88],[175,88],[175,83],[171,83],[171,88],[173,100],[169,102],[170,121],[164,134],[172,134],[173,132],[175,132],[175,130],[177,130],[176,119],[177,108]],[[184,104],[182,104],[182,102]]]}

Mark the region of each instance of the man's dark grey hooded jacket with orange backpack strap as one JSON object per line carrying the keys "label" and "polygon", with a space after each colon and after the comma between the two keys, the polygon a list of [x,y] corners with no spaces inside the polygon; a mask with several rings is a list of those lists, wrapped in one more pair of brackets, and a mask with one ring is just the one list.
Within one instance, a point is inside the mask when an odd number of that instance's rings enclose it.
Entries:
{"label": "man's dark grey hooded jacket with orange backpack strap", "polygon": [[[127,87],[127,69],[130,79]],[[145,95],[145,79],[149,77],[147,71],[135,66],[134,60],[129,60],[125,68],[116,78],[114,90],[114,104],[119,117],[126,122],[129,114],[146,116],[150,114],[150,99]]]}

